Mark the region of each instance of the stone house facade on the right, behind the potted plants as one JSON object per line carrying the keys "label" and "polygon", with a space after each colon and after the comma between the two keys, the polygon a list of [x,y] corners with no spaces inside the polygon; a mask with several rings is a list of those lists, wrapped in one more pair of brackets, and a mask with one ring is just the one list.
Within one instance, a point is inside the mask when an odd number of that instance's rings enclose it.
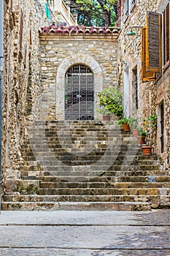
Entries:
{"label": "stone house facade on the right, behind the potted plants", "polygon": [[[121,1],[121,32],[119,36],[120,59],[118,60],[119,79],[123,80],[124,108],[127,107],[129,115],[136,115],[142,124],[142,118],[150,115],[158,115],[157,126],[152,128],[149,143],[154,146],[163,164],[163,168],[169,167],[169,67],[166,71],[157,75],[159,78],[152,82],[142,82],[142,27],[146,26],[146,15],[148,11],[160,14],[165,10],[169,1],[140,1],[136,0],[134,5],[129,5],[127,12],[127,1]],[[131,4],[131,1],[128,1]],[[126,14],[125,14],[126,12]],[[127,15],[128,14],[128,15]],[[128,35],[129,31],[135,34]],[[136,108],[134,82],[137,83]],[[161,102],[164,105],[164,146],[161,153]],[[126,106],[125,106],[126,105]]]}

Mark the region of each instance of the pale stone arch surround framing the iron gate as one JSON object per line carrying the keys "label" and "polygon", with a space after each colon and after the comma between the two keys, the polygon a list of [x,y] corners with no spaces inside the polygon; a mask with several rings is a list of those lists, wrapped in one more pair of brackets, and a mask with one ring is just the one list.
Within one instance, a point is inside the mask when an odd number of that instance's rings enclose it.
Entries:
{"label": "pale stone arch surround framing the iron gate", "polygon": [[58,67],[57,77],[56,77],[56,119],[64,119],[64,95],[65,95],[65,75],[69,67],[76,64],[82,64],[88,66],[93,72],[94,76],[94,117],[98,117],[96,113],[96,104],[98,102],[98,91],[103,88],[103,73],[98,62],[93,59],[93,57],[87,56],[85,54],[74,54],[74,56],[69,56],[64,59]]}

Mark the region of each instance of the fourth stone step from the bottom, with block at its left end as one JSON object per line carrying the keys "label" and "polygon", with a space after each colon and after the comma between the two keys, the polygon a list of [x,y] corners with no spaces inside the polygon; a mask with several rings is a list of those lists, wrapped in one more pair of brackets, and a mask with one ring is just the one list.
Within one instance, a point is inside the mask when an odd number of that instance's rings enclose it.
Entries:
{"label": "fourth stone step from the bottom, with block at its left end", "polygon": [[6,192],[38,192],[40,189],[140,189],[140,188],[170,188],[170,182],[150,182],[145,181],[123,182],[123,181],[41,181],[41,180],[20,180],[7,179]]}

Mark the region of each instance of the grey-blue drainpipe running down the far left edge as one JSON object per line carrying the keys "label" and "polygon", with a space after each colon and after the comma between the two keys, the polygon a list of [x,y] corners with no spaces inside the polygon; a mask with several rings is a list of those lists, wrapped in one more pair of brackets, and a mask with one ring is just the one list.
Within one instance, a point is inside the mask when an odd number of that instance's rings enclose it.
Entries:
{"label": "grey-blue drainpipe running down the far left edge", "polygon": [[0,214],[1,214],[1,107],[3,89],[3,33],[4,33],[4,0],[0,1]]}

